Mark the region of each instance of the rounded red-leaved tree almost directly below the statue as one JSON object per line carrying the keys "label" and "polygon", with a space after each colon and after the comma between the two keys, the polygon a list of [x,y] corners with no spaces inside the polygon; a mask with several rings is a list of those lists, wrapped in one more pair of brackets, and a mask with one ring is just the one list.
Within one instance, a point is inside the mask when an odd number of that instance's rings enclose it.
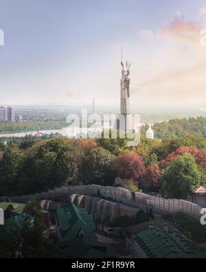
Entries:
{"label": "rounded red-leaved tree almost directly below the statue", "polygon": [[145,167],[143,159],[135,151],[131,151],[115,158],[114,169],[118,178],[138,182]]}

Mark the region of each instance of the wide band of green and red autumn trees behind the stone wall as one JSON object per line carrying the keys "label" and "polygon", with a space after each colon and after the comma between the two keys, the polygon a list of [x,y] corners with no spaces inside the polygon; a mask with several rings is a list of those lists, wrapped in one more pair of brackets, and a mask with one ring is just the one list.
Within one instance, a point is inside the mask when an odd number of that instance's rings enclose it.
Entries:
{"label": "wide band of green and red autumn trees behind the stone wall", "polygon": [[188,199],[193,189],[205,186],[206,138],[202,134],[162,140],[141,136],[137,147],[127,143],[127,138],[118,137],[11,138],[8,146],[0,143],[0,196],[98,184]]}

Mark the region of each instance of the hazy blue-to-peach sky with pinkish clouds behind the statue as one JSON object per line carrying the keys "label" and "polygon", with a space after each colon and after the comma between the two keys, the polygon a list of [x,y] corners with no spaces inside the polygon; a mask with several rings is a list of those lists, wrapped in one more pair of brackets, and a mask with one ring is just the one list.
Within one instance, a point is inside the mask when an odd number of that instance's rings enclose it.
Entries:
{"label": "hazy blue-to-peach sky with pinkish clouds behind the statue", "polygon": [[133,108],[206,111],[205,28],[206,0],[0,0],[0,104],[119,105],[123,46]]}

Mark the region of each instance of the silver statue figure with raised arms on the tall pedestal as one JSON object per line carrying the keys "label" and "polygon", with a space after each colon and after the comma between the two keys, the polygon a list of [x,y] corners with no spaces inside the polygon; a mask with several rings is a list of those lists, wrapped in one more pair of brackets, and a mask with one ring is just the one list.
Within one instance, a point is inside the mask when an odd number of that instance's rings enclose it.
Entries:
{"label": "silver statue figure with raised arms on the tall pedestal", "polygon": [[126,66],[124,63],[122,65],[122,78],[121,84],[121,114],[130,114],[129,109],[129,97],[130,97],[130,63],[126,61]]}

